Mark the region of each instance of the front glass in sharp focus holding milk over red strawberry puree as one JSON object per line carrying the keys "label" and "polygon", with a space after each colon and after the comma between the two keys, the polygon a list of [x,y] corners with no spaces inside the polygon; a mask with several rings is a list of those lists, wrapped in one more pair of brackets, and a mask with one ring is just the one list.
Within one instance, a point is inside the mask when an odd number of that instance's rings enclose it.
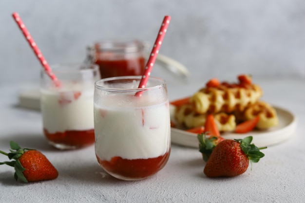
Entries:
{"label": "front glass in sharp focus holding milk over red strawberry puree", "polygon": [[[161,170],[171,149],[166,83],[120,76],[95,82],[95,155],[99,165],[122,180],[145,179]],[[141,96],[135,96],[141,92]]]}

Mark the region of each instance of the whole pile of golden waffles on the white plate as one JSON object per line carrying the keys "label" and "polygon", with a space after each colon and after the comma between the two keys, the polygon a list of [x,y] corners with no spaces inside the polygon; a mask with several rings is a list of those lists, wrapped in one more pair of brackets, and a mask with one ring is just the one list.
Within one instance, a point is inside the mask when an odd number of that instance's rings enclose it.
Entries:
{"label": "whole pile of golden waffles on the white plate", "polygon": [[259,85],[238,76],[238,83],[214,82],[195,92],[181,105],[175,106],[178,128],[192,129],[205,125],[206,116],[213,114],[219,131],[234,131],[239,123],[259,116],[256,129],[268,129],[278,124],[275,109],[261,101]]}

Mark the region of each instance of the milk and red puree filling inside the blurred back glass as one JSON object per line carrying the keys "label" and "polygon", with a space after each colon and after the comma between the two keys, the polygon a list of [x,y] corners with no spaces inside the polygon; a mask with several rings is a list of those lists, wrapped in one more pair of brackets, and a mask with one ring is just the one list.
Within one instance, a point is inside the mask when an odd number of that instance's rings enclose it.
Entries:
{"label": "milk and red puree filling inside the blurred back glass", "polygon": [[93,84],[77,83],[41,91],[43,131],[51,145],[72,149],[94,143],[93,93]]}

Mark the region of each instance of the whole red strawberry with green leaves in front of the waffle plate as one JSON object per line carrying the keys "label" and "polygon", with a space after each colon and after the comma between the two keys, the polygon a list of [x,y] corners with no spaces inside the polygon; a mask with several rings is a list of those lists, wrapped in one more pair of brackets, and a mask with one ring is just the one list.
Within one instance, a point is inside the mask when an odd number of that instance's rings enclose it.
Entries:
{"label": "whole red strawberry with green leaves in front of the waffle plate", "polygon": [[249,161],[256,163],[265,154],[252,142],[253,137],[244,139],[224,140],[212,151],[204,168],[208,177],[233,177],[246,172]]}

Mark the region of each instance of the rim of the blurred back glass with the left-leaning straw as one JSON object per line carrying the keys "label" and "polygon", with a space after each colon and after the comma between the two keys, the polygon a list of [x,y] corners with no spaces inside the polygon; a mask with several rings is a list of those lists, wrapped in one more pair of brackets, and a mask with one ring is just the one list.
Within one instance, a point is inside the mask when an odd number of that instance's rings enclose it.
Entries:
{"label": "rim of the blurred back glass with the left-leaning straw", "polygon": [[[81,68],[83,67],[83,68]],[[57,74],[65,74],[65,73],[77,73],[77,72],[99,72],[99,67],[97,64],[93,63],[83,63],[83,62],[75,62],[75,63],[55,63],[50,64],[50,68],[52,72]],[[44,69],[41,70],[41,73],[45,73]]]}

